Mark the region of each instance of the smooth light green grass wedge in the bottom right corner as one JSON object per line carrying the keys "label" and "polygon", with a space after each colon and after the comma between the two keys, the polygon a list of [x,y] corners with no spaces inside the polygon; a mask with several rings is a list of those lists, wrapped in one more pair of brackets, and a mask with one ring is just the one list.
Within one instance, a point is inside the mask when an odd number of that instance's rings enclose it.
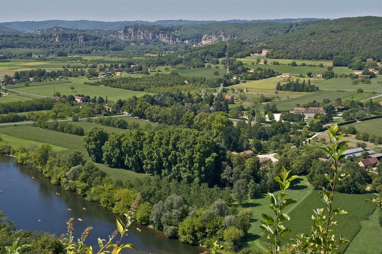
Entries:
{"label": "smooth light green grass wedge in the bottom right corner", "polygon": [[353,241],[351,241],[345,253],[363,254],[379,253],[381,251],[382,237],[380,236],[382,235],[382,228],[378,222],[378,214],[380,213],[380,209],[375,209],[369,217],[369,220],[367,220],[358,234],[353,238]]}

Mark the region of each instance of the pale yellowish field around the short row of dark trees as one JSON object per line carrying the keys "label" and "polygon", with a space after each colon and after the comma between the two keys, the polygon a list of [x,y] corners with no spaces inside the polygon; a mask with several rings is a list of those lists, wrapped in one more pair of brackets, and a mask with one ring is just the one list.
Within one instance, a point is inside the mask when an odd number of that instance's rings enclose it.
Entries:
{"label": "pale yellowish field around the short row of dark trees", "polygon": [[[308,82],[308,78],[300,78],[300,82]],[[320,82],[322,79],[310,79],[311,84],[316,84],[316,82]],[[250,92],[268,92],[268,93],[274,93],[275,87],[277,85],[277,82],[286,82],[285,79],[279,78],[279,77],[271,77],[269,79],[260,79],[260,80],[247,80],[246,83],[243,84],[237,84],[237,85],[231,85],[228,88],[248,88],[248,91]],[[278,93],[285,93],[285,94],[307,94],[303,92],[288,92],[288,91],[278,91]]]}

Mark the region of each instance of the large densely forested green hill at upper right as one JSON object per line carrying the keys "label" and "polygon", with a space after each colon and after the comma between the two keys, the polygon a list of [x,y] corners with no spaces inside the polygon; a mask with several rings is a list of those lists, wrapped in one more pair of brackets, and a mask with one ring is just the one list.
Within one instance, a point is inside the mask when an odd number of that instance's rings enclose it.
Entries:
{"label": "large densely forested green hill at upper right", "polygon": [[343,52],[380,58],[382,17],[340,18],[266,39],[269,58],[332,59]]}

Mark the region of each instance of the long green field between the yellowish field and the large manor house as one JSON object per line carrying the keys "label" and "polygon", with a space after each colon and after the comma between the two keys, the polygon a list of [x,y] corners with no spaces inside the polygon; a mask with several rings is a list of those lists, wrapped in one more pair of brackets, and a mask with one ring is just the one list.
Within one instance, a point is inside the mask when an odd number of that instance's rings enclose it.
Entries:
{"label": "long green field between the yellowish field and the large manor house", "polygon": [[[278,100],[274,101],[278,110],[293,110],[295,104],[304,104],[316,100],[322,102],[324,99],[335,100],[337,98],[345,98],[354,95],[355,92],[338,92],[338,91],[317,91],[304,95],[298,98],[291,98],[288,100]],[[257,106],[258,108],[263,108],[265,104]]]}

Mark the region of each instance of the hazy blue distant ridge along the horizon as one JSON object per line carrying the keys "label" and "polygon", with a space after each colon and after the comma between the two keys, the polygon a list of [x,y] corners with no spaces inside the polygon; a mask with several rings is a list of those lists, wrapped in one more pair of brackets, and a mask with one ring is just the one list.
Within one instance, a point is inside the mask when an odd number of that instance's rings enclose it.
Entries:
{"label": "hazy blue distant ridge along the horizon", "polygon": [[[301,18],[301,19],[268,19],[268,20],[239,20],[232,19],[227,21],[222,21],[225,23],[259,23],[259,22],[272,22],[272,23],[288,23],[295,21],[311,21],[311,20],[319,20],[317,18]],[[73,29],[120,29],[126,25],[161,25],[161,26],[175,26],[175,25],[183,25],[183,26],[197,26],[202,24],[216,23],[218,21],[210,20],[210,21],[194,21],[194,20],[158,20],[155,22],[150,21],[113,21],[113,22],[105,22],[105,21],[91,21],[91,20],[44,20],[44,21],[12,21],[12,22],[3,22],[0,23],[3,26],[6,26],[11,29],[15,29],[18,31],[28,31],[32,32],[35,30],[47,29],[51,27],[66,27]]]}

